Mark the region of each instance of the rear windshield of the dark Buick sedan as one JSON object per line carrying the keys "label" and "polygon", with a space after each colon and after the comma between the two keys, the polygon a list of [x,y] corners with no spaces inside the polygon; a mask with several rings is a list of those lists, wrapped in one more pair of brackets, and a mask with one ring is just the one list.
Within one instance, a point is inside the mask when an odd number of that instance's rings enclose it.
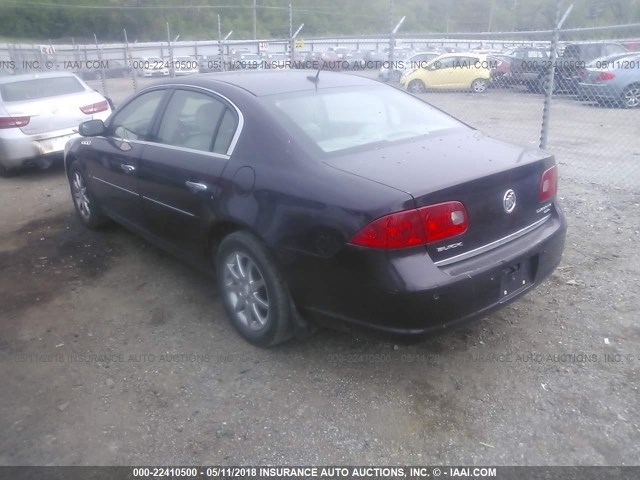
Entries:
{"label": "rear windshield of the dark Buick sedan", "polygon": [[291,130],[326,153],[428,135],[462,123],[387,86],[337,88],[264,97]]}

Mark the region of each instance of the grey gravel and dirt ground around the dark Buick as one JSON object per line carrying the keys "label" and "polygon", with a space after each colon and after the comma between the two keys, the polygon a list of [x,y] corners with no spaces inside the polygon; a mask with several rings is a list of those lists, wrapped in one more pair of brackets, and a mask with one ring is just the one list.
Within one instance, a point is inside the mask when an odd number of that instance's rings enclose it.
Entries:
{"label": "grey gravel and dirt ground around the dark Buick", "polygon": [[[428,98],[537,140],[539,97]],[[61,168],[0,179],[0,464],[637,464],[638,112],[556,105],[561,267],[413,345],[320,331],[254,348],[211,280],[84,229]]]}

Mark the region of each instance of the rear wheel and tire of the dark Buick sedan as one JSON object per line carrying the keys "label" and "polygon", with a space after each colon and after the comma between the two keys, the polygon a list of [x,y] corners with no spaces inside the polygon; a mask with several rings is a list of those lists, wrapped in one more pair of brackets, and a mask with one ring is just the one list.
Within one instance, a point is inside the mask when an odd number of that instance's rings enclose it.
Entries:
{"label": "rear wheel and tire of the dark Buick sedan", "polygon": [[226,236],[215,254],[215,265],[224,308],[245,340],[273,347],[292,336],[289,290],[258,238],[245,231]]}

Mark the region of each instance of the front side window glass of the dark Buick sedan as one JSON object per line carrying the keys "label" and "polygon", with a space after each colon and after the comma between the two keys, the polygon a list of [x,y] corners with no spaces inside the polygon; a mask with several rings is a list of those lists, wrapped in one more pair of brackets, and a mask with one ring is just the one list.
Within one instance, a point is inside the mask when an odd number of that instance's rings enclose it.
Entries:
{"label": "front side window glass of the dark Buick sedan", "polygon": [[165,93],[166,90],[154,90],[129,102],[113,118],[113,134],[128,140],[149,140],[151,122]]}

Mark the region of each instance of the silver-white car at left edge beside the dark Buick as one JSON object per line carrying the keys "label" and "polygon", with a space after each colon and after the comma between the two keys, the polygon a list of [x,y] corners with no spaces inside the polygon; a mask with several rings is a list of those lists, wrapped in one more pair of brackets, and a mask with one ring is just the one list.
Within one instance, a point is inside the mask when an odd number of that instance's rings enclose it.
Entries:
{"label": "silver-white car at left edge beside the dark Buick", "polygon": [[0,175],[62,156],[85,120],[106,120],[108,101],[72,73],[0,77]]}

